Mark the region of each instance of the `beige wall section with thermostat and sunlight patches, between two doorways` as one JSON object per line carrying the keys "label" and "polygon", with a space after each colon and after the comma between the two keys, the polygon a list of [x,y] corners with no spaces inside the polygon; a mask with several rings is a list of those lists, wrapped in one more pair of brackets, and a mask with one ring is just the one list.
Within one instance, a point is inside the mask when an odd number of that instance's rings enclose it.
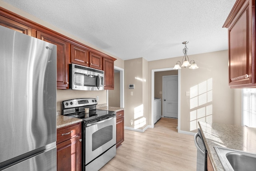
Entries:
{"label": "beige wall section with thermostat and sunlight patches, between two doorways", "polygon": [[[124,61],[124,125],[134,129],[143,129],[148,125],[148,62],[143,58]],[[134,89],[129,89],[128,85],[134,84]],[[131,92],[133,95],[131,95]],[[146,93],[146,95],[145,95]],[[146,102],[145,102],[146,101]],[[130,125],[130,121],[133,125]]]}

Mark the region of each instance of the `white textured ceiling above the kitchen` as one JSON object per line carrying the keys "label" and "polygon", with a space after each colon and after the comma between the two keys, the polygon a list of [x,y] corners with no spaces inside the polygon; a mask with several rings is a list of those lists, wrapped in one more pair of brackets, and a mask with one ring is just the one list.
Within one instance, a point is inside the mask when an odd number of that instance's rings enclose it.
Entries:
{"label": "white textured ceiling above the kitchen", "polygon": [[235,0],[3,0],[123,60],[228,49]]}

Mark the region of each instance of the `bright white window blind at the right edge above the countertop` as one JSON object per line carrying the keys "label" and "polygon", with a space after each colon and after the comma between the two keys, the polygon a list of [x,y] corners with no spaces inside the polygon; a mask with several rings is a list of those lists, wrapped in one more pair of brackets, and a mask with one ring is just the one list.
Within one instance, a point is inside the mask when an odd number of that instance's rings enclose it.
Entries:
{"label": "bright white window blind at the right edge above the countertop", "polygon": [[256,88],[243,89],[244,126],[256,127]]}

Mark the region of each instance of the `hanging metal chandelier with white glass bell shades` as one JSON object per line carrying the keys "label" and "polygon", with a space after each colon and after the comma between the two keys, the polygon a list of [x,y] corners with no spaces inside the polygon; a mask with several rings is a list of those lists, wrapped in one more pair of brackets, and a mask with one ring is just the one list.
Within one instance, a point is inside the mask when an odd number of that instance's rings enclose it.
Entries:
{"label": "hanging metal chandelier with white glass bell shades", "polygon": [[[178,69],[181,69],[181,67],[186,68],[187,66],[190,66],[189,69],[197,69],[198,66],[196,65],[195,61],[194,60],[189,61],[189,59],[188,59],[188,55],[187,55],[188,48],[187,48],[187,45],[186,45],[186,44],[188,44],[188,41],[182,42],[182,44],[185,44],[185,48],[183,49],[184,56],[182,58],[182,65],[181,65],[180,61],[177,61],[176,65],[174,66],[173,69],[178,70]],[[180,63],[181,67],[178,63]]]}

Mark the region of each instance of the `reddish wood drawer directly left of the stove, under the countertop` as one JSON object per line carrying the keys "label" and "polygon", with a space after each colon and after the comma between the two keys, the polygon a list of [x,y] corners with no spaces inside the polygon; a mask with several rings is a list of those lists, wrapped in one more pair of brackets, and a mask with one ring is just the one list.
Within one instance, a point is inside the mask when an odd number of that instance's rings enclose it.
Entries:
{"label": "reddish wood drawer directly left of the stove, under the countertop", "polygon": [[81,134],[81,123],[57,129],[57,144]]}

